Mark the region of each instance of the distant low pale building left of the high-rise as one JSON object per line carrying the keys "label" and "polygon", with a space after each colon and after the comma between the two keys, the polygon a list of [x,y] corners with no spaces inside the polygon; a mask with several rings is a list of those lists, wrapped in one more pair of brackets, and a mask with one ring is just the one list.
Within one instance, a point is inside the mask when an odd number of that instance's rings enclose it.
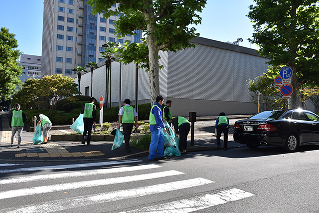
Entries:
{"label": "distant low pale building left of the high-rise", "polygon": [[41,56],[22,54],[20,57],[22,75],[19,77],[23,83],[27,78],[41,78]]}

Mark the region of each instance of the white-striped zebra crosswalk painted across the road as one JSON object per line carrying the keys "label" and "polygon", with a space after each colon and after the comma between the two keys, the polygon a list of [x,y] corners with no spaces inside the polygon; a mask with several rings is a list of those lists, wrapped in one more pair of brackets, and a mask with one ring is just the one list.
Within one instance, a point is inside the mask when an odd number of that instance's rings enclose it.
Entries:
{"label": "white-striped zebra crosswalk painted across the road", "polygon": [[[138,165],[131,165],[138,163]],[[13,166],[10,164],[1,165],[0,167]],[[99,167],[99,169],[96,169]],[[107,167],[107,168],[105,168]],[[72,169],[83,169],[81,171],[70,171]],[[63,171],[61,171],[63,170]],[[25,175],[26,172],[33,171],[35,175]],[[36,175],[38,172],[45,174]],[[134,172],[132,175],[130,172]],[[97,207],[102,204],[113,204],[112,202],[123,201],[135,198],[146,198],[146,196],[167,194],[178,192],[186,189],[192,189],[201,186],[214,184],[212,180],[201,177],[183,179],[182,172],[176,170],[164,170],[161,166],[155,164],[143,164],[141,160],[122,160],[101,163],[59,165],[46,167],[30,167],[19,169],[0,170],[0,174],[18,176],[12,178],[0,179],[0,212],[1,213],[51,213],[51,212],[75,212],[77,208]],[[23,175],[19,175],[23,173]],[[136,174],[137,173],[137,174]],[[124,174],[124,176],[123,176]],[[126,175],[129,174],[129,175]],[[77,178],[92,180],[74,181]],[[94,177],[94,178],[93,178]],[[98,177],[98,179],[95,179]],[[163,178],[172,180],[163,183]],[[51,185],[39,185],[34,187],[21,187],[24,184],[31,183],[48,183],[50,180],[67,180],[63,183]],[[140,187],[131,189],[121,189],[118,184],[142,182]],[[149,183],[152,183],[151,185]],[[18,185],[19,184],[19,185]],[[16,189],[15,185],[19,188]],[[32,184],[32,186],[35,184]],[[11,199],[23,200],[32,196],[50,197],[54,193],[64,193],[80,189],[86,191],[91,188],[106,189],[106,192],[97,191],[95,194],[70,196],[63,199],[44,200],[44,202],[35,202],[21,206],[7,207],[5,204]],[[113,190],[110,190],[113,189]],[[126,212],[121,212],[123,208],[117,208],[116,213],[191,213],[198,210],[211,208],[216,205],[226,204],[254,196],[249,192],[239,189],[229,189],[216,194],[206,194],[203,196],[194,196],[191,198],[180,199],[159,205],[148,205],[147,207],[137,208]],[[53,197],[53,196],[52,196]],[[32,197],[33,198],[33,197]],[[26,200],[26,199],[25,199]],[[31,199],[32,200],[32,199]],[[36,199],[35,199],[36,200]],[[3,208],[3,209],[2,209]],[[91,210],[90,212],[98,212]],[[107,211],[104,211],[107,212]],[[113,211],[112,211],[113,212]]]}

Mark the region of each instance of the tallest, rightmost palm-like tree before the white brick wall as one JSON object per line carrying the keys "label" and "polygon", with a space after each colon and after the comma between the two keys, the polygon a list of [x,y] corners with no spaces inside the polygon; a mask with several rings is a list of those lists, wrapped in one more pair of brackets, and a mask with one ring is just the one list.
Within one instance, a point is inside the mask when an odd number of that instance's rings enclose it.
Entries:
{"label": "tallest, rightmost palm-like tree before the white brick wall", "polygon": [[115,60],[113,54],[116,53],[119,43],[107,41],[102,45],[104,47],[104,51],[101,52],[101,57],[105,60],[105,68],[106,68],[106,87],[105,87],[105,104],[108,106],[109,93],[110,93],[110,107],[111,107],[111,96],[112,96],[112,60]]}

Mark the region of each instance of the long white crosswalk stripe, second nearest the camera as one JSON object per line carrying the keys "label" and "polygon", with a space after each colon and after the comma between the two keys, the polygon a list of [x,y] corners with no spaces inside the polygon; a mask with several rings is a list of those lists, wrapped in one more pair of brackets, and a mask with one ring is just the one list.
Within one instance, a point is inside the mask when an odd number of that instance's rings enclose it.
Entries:
{"label": "long white crosswalk stripe, second nearest the camera", "polygon": [[166,184],[153,185],[148,187],[141,187],[130,190],[120,190],[110,193],[101,193],[97,195],[90,196],[80,196],[70,199],[63,199],[57,201],[48,201],[44,204],[40,205],[27,205],[19,209],[5,209],[1,210],[2,213],[51,213],[57,211],[64,211],[67,209],[84,207],[89,205],[96,205],[106,202],[124,200],[129,198],[137,198],[147,195],[159,194],[170,192],[174,190],[186,189],[191,187],[202,186],[206,184],[211,184],[212,181],[203,179],[203,178],[195,178],[184,181],[171,182]]}

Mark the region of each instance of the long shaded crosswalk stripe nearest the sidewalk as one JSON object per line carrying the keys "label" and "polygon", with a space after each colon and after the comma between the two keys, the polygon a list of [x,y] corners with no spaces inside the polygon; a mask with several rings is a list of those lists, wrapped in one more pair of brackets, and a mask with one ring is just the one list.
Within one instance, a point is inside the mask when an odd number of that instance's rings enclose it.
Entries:
{"label": "long shaded crosswalk stripe nearest the sidewalk", "polygon": [[40,171],[40,170],[63,170],[81,167],[96,167],[96,166],[109,166],[115,164],[129,164],[142,162],[141,160],[125,160],[125,161],[108,161],[100,163],[89,163],[89,164],[70,164],[70,165],[59,165],[59,166],[47,166],[47,167],[30,167],[30,168],[20,168],[14,170],[0,170],[0,173],[16,173],[16,172],[30,172],[30,171]]}

